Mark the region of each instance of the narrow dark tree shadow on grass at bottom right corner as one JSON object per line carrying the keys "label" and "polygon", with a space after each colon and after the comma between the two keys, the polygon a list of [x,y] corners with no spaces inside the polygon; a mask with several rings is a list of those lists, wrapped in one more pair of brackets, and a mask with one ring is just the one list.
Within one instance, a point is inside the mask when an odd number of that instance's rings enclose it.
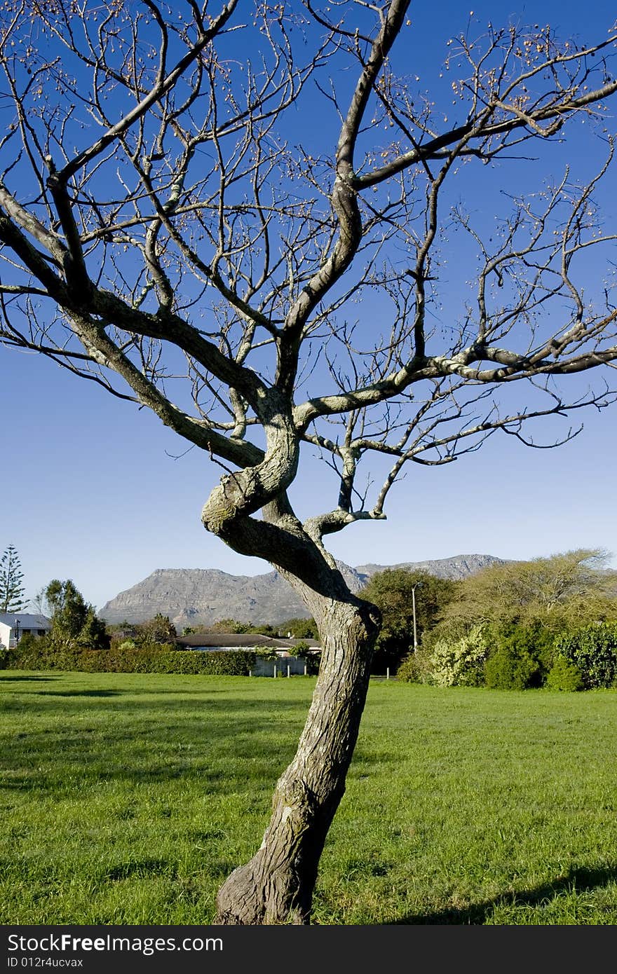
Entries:
{"label": "narrow dark tree shadow on grass at bottom right corner", "polygon": [[598,886],[605,886],[615,880],[617,880],[617,865],[601,869],[582,866],[569,869],[565,876],[560,876],[558,880],[553,880],[553,882],[543,883],[534,889],[503,893],[500,896],[495,896],[492,900],[474,903],[460,910],[441,910],[432,914],[408,914],[403,918],[388,920],[385,925],[400,926],[412,923],[483,925],[492,915],[495,907],[535,907],[572,889],[576,889],[577,892],[591,892]]}

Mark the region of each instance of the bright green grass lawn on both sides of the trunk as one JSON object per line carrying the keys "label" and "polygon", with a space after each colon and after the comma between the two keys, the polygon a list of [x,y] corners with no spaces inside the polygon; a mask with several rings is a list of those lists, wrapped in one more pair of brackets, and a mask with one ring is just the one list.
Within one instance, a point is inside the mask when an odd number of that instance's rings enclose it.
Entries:
{"label": "bright green grass lawn on both sides of the trunk", "polygon": [[[0,673],[0,922],[203,924],[311,678]],[[322,924],[617,923],[617,693],[371,683]]]}

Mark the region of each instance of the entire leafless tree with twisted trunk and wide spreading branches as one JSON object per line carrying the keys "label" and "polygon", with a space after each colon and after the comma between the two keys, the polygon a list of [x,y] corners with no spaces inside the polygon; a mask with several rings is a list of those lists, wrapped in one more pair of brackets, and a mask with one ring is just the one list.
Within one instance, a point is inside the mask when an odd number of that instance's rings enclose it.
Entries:
{"label": "entire leafless tree with twisted trunk and wide spreading branches", "polygon": [[[379,628],[325,537],[383,518],[409,464],[496,431],[545,445],[523,428],[614,398],[616,235],[595,200],[616,35],[470,28],[431,94],[402,73],[408,0],[218,2],[5,4],[0,335],[223,467],[204,526],[268,560],[316,619],[296,755],[217,899],[217,922],[308,922]],[[566,131],[597,160],[581,184]],[[480,167],[507,190],[499,212],[482,212],[494,194],[475,215],[460,203]],[[449,293],[453,253],[473,298]],[[590,370],[595,388],[571,379]],[[302,444],[337,478],[304,523],[288,497]],[[390,467],[381,487],[370,458]]]}

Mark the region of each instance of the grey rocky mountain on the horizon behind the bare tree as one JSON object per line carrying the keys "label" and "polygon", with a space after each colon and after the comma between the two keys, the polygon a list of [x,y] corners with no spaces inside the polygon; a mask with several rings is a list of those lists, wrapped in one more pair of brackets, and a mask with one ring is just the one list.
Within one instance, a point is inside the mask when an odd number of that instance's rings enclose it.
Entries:
{"label": "grey rocky mountain on the horizon behind the bare tree", "polygon": [[[464,579],[495,562],[501,564],[503,559],[487,554],[467,554],[436,561],[368,564],[358,568],[338,562],[338,567],[351,590],[359,592],[371,575],[384,568],[423,569],[442,579]],[[178,632],[185,625],[211,625],[219,618],[236,618],[261,625],[309,615],[278,572],[228,575],[215,568],[158,568],[147,579],[110,599],[98,615],[113,624],[125,620],[145,622],[157,613],[169,616]]]}

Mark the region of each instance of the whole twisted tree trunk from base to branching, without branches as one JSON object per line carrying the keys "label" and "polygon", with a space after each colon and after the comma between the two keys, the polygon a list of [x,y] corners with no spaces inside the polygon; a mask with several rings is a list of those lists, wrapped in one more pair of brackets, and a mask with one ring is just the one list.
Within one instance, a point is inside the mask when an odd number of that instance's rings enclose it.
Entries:
{"label": "whole twisted tree trunk from base to branching, without branches", "polygon": [[[278,393],[260,408],[268,445],[262,462],[223,477],[202,520],[236,551],[265,558],[281,572],[315,618],[323,649],[307,721],[277,783],[263,842],[221,886],[215,922],[308,923],[320,856],[358,738],[379,618],[352,594],[324,547],[326,522],[302,525],[289,505],[286,488],[299,453],[289,408]],[[256,511],[260,519],[251,517]]]}

